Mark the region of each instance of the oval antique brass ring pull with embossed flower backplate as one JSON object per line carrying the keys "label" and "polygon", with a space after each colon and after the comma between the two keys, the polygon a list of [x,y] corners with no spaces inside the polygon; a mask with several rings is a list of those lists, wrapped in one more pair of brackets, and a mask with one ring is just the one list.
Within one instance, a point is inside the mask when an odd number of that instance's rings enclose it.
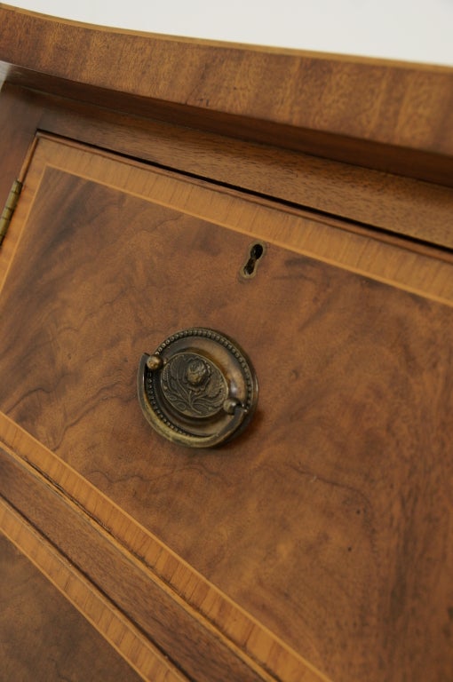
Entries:
{"label": "oval antique brass ring pull with embossed flower backplate", "polygon": [[155,431],[188,448],[212,448],[249,424],[258,382],[230,338],[213,329],[182,329],[152,355],[143,353],[138,393]]}

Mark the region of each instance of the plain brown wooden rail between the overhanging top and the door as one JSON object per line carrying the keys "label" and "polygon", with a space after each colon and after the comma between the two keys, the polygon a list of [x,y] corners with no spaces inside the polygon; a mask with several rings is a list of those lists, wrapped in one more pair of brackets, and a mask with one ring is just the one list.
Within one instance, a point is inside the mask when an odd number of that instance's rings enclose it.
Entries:
{"label": "plain brown wooden rail between the overhanging top and the door", "polygon": [[[6,84],[0,95],[0,195],[26,170],[37,129],[373,229],[453,247],[451,187],[274,146],[119,114]],[[449,176],[451,180],[453,174]]]}

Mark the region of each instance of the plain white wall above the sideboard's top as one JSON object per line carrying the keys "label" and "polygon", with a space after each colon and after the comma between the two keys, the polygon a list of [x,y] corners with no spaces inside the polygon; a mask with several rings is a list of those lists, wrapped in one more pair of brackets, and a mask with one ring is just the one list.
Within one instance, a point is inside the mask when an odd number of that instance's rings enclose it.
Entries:
{"label": "plain white wall above the sideboard's top", "polygon": [[9,0],[105,26],[453,66],[453,0]]}

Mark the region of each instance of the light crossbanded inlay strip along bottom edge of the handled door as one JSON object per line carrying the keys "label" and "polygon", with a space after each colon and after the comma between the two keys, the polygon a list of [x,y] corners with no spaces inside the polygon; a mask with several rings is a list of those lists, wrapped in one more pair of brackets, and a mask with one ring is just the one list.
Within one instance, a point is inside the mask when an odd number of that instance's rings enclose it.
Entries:
{"label": "light crossbanded inlay strip along bottom edge of the handled door", "polygon": [[[10,456],[28,468],[31,475],[43,477],[67,504],[76,505],[86,514],[91,526],[110,538],[127,560],[145,572],[148,579],[184,607],[188,614],[204,627],[214,627],[217,637],[235,655],[259,670],[262,678],[267,678],[265,670],[269,670],[282,680],[328,680],[3,413],[0,413],[0,442]],[[289,675],[291,670],[295,671],[295,676],[294,672]]]}

